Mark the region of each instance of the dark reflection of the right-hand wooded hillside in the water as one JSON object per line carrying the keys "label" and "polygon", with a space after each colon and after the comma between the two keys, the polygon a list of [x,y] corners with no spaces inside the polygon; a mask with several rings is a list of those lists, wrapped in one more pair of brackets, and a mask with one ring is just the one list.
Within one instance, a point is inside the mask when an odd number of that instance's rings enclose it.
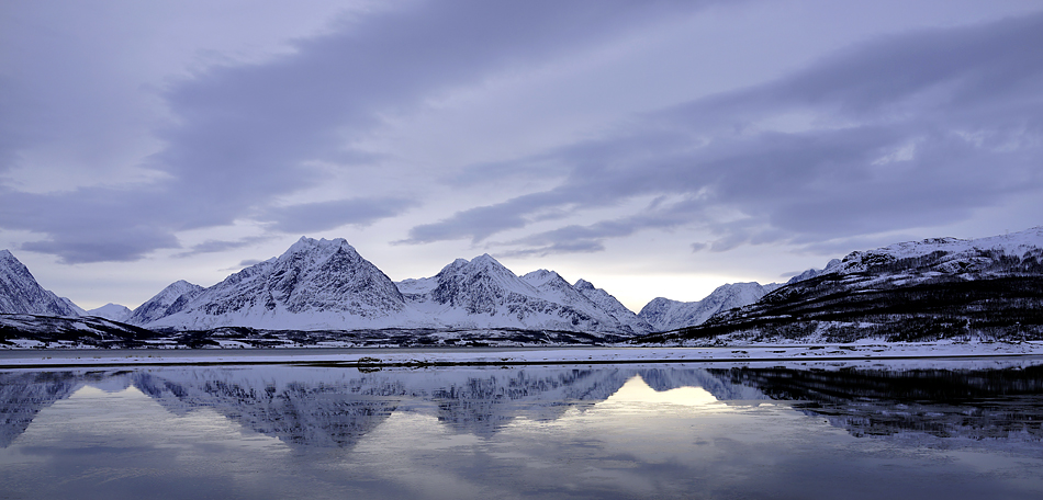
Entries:
{"label": "dark reflection of the right-hand wooded hillside in the water", "polygon": [[1006,370],[709,370],[852,435],[1043,440],[1043,366]]}

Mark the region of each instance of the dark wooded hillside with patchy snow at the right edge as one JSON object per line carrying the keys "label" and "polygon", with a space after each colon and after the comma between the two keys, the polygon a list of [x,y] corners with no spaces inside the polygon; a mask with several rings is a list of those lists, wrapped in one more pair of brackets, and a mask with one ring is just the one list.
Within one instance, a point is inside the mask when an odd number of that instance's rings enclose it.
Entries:
{"label": "dark wooded hillside with patchy snow at the right edge", "polygon": [[852,252],[705,323],[689,343],[1043,339],[1043,227]]}

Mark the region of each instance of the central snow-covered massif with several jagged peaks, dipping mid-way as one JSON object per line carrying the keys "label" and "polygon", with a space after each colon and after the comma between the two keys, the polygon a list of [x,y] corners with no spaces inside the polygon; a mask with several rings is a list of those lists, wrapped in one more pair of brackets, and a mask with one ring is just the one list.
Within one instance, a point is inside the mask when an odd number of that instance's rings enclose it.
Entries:
{"label": "central snow-covered massif with several jagged peaks, dipping mid-way", "polygon": [[520,328],[638,334],[651,327],[607,292],[553,271],[518,276],[489,254],[397,285],[347,241],[301,238],[276,259],[202,288],[178,282],[127,319],[149,328],[350,330]]}

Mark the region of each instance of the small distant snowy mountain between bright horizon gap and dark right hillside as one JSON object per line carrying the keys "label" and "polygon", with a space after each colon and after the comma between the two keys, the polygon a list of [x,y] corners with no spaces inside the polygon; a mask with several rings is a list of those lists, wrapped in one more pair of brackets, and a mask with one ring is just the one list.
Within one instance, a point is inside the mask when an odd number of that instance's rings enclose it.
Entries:
{"label": "small distant snowy mountain between bright horizon gap and dark right hillside", "polygon": [[638,316],[655,331],[676,330],[700,325],[720,311],[753,304],[780,286],[775,283],[730,283],[718,286],[702,300],[689,303],[657,297],[642,307]]}

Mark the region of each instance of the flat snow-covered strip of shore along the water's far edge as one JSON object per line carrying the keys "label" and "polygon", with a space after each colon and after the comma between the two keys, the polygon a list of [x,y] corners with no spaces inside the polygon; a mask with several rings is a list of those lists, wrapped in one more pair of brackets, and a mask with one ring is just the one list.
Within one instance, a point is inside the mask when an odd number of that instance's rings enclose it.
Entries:
{"label": "flat snow-covered strip of shore along the water's far edge", "polygon": [[[229,345],[232,346],[232,345]],[[330,363],[343,366],[682,363],[1043,356],[1043,342],[855,343],[732,348],[248,349],[0,351],[0,367]]]}

